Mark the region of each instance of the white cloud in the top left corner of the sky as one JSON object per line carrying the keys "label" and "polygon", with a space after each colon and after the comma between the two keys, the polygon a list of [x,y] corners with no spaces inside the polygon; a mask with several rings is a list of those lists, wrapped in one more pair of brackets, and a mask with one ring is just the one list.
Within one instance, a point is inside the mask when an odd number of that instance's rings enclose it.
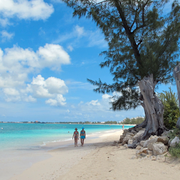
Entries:
{"label": "white cloud in the top left corner of the sky", "polygon": [[53,12],[53,6],[45,3],[44,0],[0,1],[0,14],[4,20],[14,17],[25,20],[45,20],[50,17]]}

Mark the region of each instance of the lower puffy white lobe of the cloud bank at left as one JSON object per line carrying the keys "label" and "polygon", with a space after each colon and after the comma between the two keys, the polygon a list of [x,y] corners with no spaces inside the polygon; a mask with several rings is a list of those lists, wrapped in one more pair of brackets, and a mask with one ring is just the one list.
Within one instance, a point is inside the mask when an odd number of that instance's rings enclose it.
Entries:
{"label": "lower puffy white lobe of the cloud bank at left", "polygon": [[25,88],[3,88],[7,102],[36,102],[38,98],[48,99],[46,104],[51,106],[64,106],[66,99],[63,94],[68,92],[65,82],[59,78],[49,77],[44,79],[41,75],[33,78]]}

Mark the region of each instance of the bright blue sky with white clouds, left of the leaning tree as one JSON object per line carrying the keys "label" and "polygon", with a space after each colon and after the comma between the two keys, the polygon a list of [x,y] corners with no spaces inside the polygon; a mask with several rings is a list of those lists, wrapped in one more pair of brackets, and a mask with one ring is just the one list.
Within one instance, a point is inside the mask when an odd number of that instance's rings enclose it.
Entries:
{"label": "bright blue sky with white clouds, left of the leaning tree", "polygon": [[[93,91],[87,78],[112,82],[109,69],[99,66],[107,42],[93,21],[72,13],[61,0],[0,0],[0,121],[144,116],[142,107],[112,111],[113,94]],[[157,92],[170,86],[177,91],[168,84]]]}

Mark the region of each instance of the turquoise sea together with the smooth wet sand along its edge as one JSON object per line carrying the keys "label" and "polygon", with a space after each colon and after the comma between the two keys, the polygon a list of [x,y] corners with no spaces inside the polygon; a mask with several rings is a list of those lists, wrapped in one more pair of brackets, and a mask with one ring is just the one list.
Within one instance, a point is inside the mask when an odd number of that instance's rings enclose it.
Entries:
{"label": "turquoise sea together with the smooth wet sand along its edge", "polygon": [[[87,139],[122,129],[122,125],[109,124],[0,123],[0,180],[9,180],[49,158],[49,150],[73,146],[73,132],[82,127]],[[125,125],[124,129],[130,127]]]}

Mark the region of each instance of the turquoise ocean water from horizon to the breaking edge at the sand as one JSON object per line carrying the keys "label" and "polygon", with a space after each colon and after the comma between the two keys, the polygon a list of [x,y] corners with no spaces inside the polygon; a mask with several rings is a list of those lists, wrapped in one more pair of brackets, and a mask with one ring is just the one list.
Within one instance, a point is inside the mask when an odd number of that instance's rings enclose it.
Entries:
{"label": "turquoise ocean water from horizon to the breaking edge at the sand", "polygon": [[[0,124],[0,150],[13,150],[44,146],[48,143],[68,141],[72,139],[75,128],[85,128],[88,135],[103,131],[122,129],[121,125],[91,125],[91,124]],[[132,126],[125,126],[129,128]]]}

